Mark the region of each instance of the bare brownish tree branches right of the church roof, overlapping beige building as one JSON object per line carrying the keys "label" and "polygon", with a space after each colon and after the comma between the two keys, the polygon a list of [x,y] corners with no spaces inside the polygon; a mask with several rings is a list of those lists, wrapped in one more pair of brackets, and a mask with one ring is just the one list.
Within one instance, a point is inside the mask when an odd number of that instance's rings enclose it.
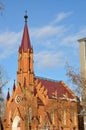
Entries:
{"label": "bare brownish tree branches right of the church roof, overlapping beige building", "polygon": [[74,92],[82,97],[83,112],[86,113],[86,78],[79,69],[72,67],[68,63],[66,64],[66,75],[73,84]]}

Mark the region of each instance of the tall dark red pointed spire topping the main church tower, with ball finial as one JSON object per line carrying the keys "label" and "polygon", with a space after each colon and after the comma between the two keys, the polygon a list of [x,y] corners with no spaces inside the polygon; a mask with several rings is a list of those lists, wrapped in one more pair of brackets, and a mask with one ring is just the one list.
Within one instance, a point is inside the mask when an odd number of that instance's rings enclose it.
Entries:
{"label": "tall dark red pointed spire topping the main church tower, with ball finial", "polygon": [[22,51],[23,52],[27,52],[28,49],[32,50],[31,43],[30,43],[29,32],[28,32],[28,26],[27,26],[27,18],[28,18],[27,12],[26,12],[24,18],[25,18],[25,26],[24,26],[24,32],[23,32],[22,42],[21,42],[21,45],[19,47],[19,52],[20,53]]}

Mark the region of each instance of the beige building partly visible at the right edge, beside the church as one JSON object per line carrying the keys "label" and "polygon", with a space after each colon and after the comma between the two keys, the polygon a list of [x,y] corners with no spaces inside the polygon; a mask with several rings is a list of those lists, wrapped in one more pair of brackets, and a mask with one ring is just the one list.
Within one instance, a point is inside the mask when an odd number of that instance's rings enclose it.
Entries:
{"label": "beige building partly visible at the right edge, beside the church", "polygon": [[79,39],[80,45],[80,68],[82,77],[82,105],[83,105],[83,118],[84,130],[86,130],[86,38]]}

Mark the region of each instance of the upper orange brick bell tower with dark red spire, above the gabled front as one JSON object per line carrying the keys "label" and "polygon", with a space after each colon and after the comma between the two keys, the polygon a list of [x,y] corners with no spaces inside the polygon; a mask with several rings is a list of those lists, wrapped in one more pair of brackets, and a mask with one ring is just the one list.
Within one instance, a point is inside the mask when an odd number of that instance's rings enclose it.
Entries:
{"label": "upper orange brick bell tower with dark red spire, above the gabled front", "polygon": [[31,47],[28,32],[27,14],[24,16],[24,18],[25,18],[24,32],[22,42],[18,50],[17,86],[21,85],[21,87],[23,87],[25,85],[27,87],[30,87],[33,86],[33,79],[34,79],[33,49]]}

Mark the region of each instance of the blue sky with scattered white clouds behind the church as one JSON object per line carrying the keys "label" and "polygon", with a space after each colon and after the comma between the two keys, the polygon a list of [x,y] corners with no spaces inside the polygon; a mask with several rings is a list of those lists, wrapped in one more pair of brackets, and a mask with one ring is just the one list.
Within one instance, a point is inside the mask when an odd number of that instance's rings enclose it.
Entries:
{"label": "blue sky with scattered white clouds behind the church", "polygon": [[86,0],[3,0],[0,12],[0,65],[16,79],[25,10],[34,49],[36,76],[66,82],[65,64],[79,67],[78,39],[86,37]]}

